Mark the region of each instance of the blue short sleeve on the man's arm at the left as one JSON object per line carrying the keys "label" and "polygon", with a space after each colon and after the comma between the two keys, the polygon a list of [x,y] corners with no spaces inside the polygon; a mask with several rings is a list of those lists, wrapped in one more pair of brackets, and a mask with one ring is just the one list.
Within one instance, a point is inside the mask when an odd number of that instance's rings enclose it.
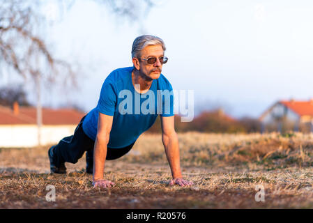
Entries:
{"label": "blue short sleeve on the man's arm at the left", "polygon": [[98,112],[108,116],[114,116],[117,97],[112,83],[104,83],[101,88],[98,101]]}

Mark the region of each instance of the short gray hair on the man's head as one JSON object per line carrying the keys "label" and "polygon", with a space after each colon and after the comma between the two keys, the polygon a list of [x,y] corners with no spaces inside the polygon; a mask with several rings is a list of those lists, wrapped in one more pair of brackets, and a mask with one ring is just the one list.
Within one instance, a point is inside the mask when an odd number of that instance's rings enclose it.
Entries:
{"label": "short gray hair on the man's head", "polygon": [[132,58],[138,58],[140,56],[140,52],[144,47],[148,45],[161,45],[162,49],[165,51],[165,43],[158,36],[151,35],[143,35],[135,38],[134,43],[132,43]]}

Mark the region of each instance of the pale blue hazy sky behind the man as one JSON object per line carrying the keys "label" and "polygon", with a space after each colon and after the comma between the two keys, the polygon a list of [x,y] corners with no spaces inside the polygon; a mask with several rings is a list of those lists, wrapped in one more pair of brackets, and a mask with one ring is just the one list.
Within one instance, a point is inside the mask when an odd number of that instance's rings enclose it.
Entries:
{"label": "pale blue hazy sky behind the man", "polygon": [[43,105],[96,107],[107,75],[132,66],[132,42],[142,34],[165,41],[162,74],[173,89],[194,90],[195,114],[223,107],[236,118],[258,118],[277,100],[313,98],[312,1],[155,2],[137,22],[86,0],[56,19],[59,9],[48,4],[54,54],[79,63],[83,74],[78,90],[46,91]]}

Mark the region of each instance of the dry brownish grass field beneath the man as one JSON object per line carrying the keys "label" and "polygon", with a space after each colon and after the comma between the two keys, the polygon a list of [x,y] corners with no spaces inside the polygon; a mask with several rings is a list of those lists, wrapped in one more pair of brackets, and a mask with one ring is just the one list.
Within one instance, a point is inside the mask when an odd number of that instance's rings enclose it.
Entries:
{"label": "dry brownish grass field beneath the man", "polygon": [[[48,147],[0,149],[0,208],[313,208],[313,134],[179,133],[183,176],[169,186],[160,134],[142,134],[129,154],[105,163],[116,185],[93,189],[85,160],[49,174]],[[46,186],[56,201],[46,200]],[[256,201],[256,187],[265,201]]]}

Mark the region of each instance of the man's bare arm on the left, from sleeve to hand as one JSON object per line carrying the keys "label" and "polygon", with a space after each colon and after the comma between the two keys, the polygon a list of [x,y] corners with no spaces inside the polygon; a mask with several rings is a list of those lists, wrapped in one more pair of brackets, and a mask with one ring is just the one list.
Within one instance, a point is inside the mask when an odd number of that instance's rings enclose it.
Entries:
{"label": "man's bare arm on the left, from sleeve to hand", "polygon": [[112,129],[113,116],[99,112],[98,131],[93,148],[93,185],[95,187],[111,187],[113,182],[104,179],[105,159],[107,157],[107,144],[109,144],[109,133]]}

